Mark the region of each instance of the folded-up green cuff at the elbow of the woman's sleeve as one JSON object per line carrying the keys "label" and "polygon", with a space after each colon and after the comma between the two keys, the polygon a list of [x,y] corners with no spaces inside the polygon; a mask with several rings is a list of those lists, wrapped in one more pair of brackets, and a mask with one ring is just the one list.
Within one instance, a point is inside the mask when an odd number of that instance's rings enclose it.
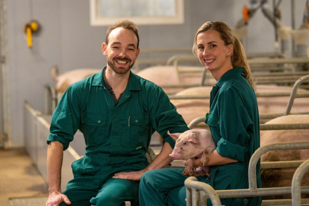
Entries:
{"label": "folded-up green cuff at the elbow of the woman's sleeve", "polygon": [[223,138],[218,141],[216,150],[222,157],[228,157],[240,162],[244,161],[244,157],[248,151],[247,148],[239,144],[233,144]]}

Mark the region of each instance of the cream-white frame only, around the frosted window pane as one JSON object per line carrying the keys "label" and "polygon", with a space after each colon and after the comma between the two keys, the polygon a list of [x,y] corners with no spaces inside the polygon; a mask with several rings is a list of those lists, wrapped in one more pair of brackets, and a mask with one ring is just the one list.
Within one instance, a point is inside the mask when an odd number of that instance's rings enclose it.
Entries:
{"label": "cream-white frame only, around the frosted window pane", "polygon": [[[175,0],[175,16],[124,16],[124,17],[99,17],[98,1],[90,2],[90,25],[91,26],[110,26],[115,22],[128,19],[137,25],[159,25],[159,24],[183,24],[184,23],[184,0]],[[108,9],[108,8],[106,8]]]}

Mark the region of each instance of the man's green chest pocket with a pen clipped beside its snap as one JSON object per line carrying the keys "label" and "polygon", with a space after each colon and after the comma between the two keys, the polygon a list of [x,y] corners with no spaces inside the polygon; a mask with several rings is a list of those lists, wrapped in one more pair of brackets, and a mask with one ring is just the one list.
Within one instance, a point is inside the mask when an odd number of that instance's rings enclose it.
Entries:
{"label": "man's green chest pocket with a pen clipped beside its snap", "polygon": [[136,149],[141,148],[147,144],[149,136],[149,114],[148,113],[137,113],[132,114],[131,118],[131,137],[135,140],[132,141]]}

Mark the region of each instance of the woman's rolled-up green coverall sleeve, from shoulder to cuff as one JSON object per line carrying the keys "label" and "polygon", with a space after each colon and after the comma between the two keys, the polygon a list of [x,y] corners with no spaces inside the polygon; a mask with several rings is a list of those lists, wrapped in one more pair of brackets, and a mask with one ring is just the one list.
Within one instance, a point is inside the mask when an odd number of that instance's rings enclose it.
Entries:
{"label": "woman's rolled-up green coverall sleeve, from shoulder to cuff", "polygon": [[233,89],[222,92],[218,97],[220,136],[217,152],[223,157],[244,161],[248,152],[253,123],[243,100]]}

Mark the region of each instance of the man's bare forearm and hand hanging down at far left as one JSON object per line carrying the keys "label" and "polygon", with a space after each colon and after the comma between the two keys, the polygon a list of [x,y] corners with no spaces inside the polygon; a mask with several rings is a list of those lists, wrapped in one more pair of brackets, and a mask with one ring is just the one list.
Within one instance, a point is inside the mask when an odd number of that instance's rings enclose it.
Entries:
{"label": "man's bare forearm and hand hanging down at far left", "polygon": [[47,149],[47,174],[49,183],[49,197],[45,206],[58,206],[61,202],[71,204],[66,195],[61,193],[61,166],[63,160],[63,145],[52,141]]}

